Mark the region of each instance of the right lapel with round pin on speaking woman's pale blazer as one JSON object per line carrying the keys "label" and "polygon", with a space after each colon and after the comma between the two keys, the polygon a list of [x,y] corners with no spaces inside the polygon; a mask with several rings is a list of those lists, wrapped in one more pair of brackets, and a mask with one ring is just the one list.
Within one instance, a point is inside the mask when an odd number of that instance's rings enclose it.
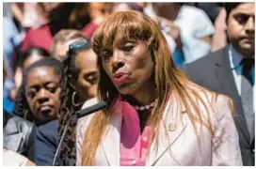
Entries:
{"label": "right lapel with round pin on speaking woman's pale blazer", "polygon": [[158,145],[155,140],[152,142],[146,165],[154,165],[184,132],[187,125],[184,114],[184,105],[179,106],[175,99],[168,100],[163,120],[159,126]]}

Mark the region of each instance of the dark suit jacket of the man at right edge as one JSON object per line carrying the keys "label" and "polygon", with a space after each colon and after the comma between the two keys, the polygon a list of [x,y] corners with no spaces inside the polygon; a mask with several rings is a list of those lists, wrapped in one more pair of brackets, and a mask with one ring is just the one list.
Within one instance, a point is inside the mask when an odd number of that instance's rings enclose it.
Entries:
{"label": "dark suit jacket of the man at right edge", "polygon": [[209,54],[184,67],[186,75],[195,83],[218,93],[225,94],[234,100],[235,124],[239,133],[239,142],[244,165],[254,165],[254,139],[250,138],[243,111],[241,98],[232,75],[229,59],[229,48]]}

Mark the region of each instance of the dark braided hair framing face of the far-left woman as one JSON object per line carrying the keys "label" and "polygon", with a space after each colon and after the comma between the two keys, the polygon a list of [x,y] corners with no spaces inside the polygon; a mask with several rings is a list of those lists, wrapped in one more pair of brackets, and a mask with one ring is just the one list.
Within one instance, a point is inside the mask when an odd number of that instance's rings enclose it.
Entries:
{"label": "dark braided hair framing face of the far-left woman", "polygon": [[24,69],[23,73],[23,82],[21,87],[19,88],[16,100],[15,100],[15,109],[14,109],[14,114],[24,116],[25,119],[34,121],[36,125],[43,124],[45,122],[39,121],[36,116],[33,115],[31,112],[28,102],[25,98],[25,84],[27,81],[27,74],[35,69],[35,68],[40,68],[40,67],[49,67],[49,68],[54,68],[56,74],[58,74],[59,77],[59,86],[61,88],[60,95],[63,93],[62,91],[65,91],[66,87],[66,74],[64,72],[64,68],[61,62],[56,60],[53,57],[45,57],[32,65],[30,65],[27,69]]}

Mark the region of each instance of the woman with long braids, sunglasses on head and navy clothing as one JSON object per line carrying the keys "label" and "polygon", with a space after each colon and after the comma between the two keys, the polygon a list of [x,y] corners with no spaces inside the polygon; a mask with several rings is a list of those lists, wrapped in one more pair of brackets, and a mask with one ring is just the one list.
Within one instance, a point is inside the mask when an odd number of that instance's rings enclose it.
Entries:
{"label": "woman with long braids, sunglasses on head and navy clothing", "polygon": [[[88,38],[77,40],[70,45],[68,57],[63,61],[67,85],[60,98],[61,106],[57,115],[58,118],[40,126],[36,134],[37,147],[44,147],[43,150],[38,148],[35,151],[37,165],[53,164],[60,136],[63,134],[67,122],[76,111],[81,109],[86,100],[96,97],[98,80],[96,63],[97,55],[92,51]],[[75,125],[74,122],[68,126],[55,165],[75,164]]]}

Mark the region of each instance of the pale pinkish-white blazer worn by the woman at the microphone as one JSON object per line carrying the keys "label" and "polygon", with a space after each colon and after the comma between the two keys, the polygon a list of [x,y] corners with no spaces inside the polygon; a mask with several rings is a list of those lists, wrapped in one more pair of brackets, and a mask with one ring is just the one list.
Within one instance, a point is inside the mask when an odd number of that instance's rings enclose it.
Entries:
{"label": "pale pinkish-white blazer worn by the woman at the microphone", "polygon": [[[207,91],[206,95],[201,93],[201,97],[207,100],[212,98],[213,94]],[[202,127],[197,137],[192,122],[185,113],[184,105],[171,95],[159,127],[159,144],[156,145],[155,140],[152,142],[146,165],[241,165],[238,133],[228,100],[219,96],[211,104],[215,107],[215,110],[210,112],[210,119],[216,129],[215,134],[212,136],[205,127]],[[120,165],[121,105],[116,110],[112,113],[111,123],[107,126],[96,151],[96,165]],[[201,110],[205,115],[206,111]],[[84,116],[77,123],[77,165],[82,163],[84,135],[92,116],[93,114]],[[230,128],[226,128],[228,124]],[[172,126],[172,130],[168,131],[169,125]],[[157,150],[154,147],[157,147]]]}

